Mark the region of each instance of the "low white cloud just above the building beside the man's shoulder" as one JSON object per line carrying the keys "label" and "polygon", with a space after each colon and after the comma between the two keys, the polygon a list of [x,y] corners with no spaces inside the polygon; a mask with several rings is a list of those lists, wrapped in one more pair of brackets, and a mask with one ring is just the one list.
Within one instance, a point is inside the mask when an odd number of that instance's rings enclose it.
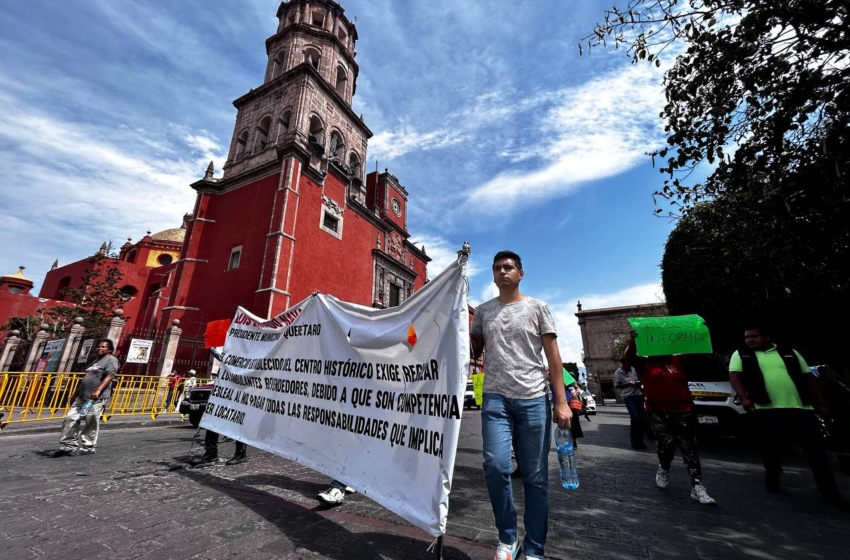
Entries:
{"label": "low white cloud just above the building beside the man's shoulder", "polygon": [[578,318],[575,316],[576,302],[581,301],[582,309],[603,309],[606,307],[620,307],[625,305],[638,305],[643,303],[656,303],[664,301],[664,291],[661,283],[648,283],[631,286],[610,294],[585,294],[574,297],[564,297],[559,301],[549,301],[549,308],[555,317],[555,325],[558,328],[558,348],[561,351],[561,359],[565,362],[576,362],[581,364],[581,329],[578,326]]}

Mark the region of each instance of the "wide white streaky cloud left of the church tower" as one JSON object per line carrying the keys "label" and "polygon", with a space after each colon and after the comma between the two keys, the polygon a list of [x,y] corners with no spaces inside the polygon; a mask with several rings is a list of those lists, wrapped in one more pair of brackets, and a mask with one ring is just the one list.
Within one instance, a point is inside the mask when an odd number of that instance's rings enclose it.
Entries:
{"label": "wide white streaky cloud left of the church tower", "polygon": [[189,184],[211,159],[224,163],[213,138],[175,135],[168,124],[71,122],[23,100],[2,102],[0,142],[9,147],[0,166],[10,172],[0,191],[0,236],[16,245],[15,254],[0,255],[0,270],[25,264],[37,283],[54,258],[67,264],[103,241],[120,245],[180,225],[194,205]]}

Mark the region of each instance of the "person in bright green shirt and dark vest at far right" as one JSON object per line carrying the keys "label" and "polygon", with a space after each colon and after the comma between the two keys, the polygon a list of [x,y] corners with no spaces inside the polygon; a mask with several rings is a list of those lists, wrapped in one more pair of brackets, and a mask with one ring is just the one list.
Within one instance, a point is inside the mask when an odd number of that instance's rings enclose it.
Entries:
{"label": "person in bright green shirt and dark vest at far right", "polygon": [[[824,503],[850,510],[838,491],[818,430],[815,410],[829,416],[817,379],[803,357],[777,346],[764,327],[744,332],[745,346],[732,354],[729,379],[741,406],[755,416],[764,449],[764,482],[779,493],[785,441],[800,444]],[[814,408],[813,408],[814,407]]]}

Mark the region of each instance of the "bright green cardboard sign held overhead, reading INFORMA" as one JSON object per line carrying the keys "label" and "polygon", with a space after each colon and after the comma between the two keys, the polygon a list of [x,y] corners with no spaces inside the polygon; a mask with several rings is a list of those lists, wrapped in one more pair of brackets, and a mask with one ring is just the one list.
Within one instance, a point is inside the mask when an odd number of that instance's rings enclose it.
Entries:
{"label": "bright green cardboard sign held overhead, reading INFORMA", "polygon": [[629,324],[637,332],[638,356],[711,353],[711,336],[699,315],[635,317]]}

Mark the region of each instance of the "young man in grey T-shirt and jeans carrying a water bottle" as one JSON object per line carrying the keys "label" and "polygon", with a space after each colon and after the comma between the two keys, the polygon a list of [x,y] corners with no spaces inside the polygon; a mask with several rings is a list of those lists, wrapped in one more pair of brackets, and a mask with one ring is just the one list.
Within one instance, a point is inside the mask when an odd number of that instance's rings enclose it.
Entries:
{"label": "young man in grey T-shirt and jeans carrying a water bottle", "polygon": [[[484,353],[487,372],[481,434],[484,478],[499,532],[496,560],[516,560],[520,549],[511,486],[513,435],[525,489],[522,547],[528,560],[538,560],[543,558],[549,530],[552,421],[561,428],[570,428],[555,321],[544,302],[520,293],[523,276],[519,255],[511,251],[496,253],[493,281],[499,296],[478,306],[470,328],[473,357],[477,359]],[[549,403],[544,353],[551,372],[554,411]]]}

